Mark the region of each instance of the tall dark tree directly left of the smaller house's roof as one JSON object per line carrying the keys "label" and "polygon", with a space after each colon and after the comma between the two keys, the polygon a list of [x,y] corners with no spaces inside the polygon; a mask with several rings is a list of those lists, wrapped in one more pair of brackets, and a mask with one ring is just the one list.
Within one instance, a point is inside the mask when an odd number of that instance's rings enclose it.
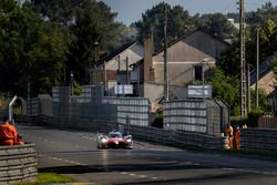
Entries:
{"label": "tall dark tree directly left of the smaller house's roof", "polygon": [[75,23],[71,27],[75,40],[68,56],[68,68],[74,71],[81,84],[88,82],[88,69],[95,64],[99,47],[104,55],[120,45],[121,24],[114,22],[115,16],[103,2],[86,0],[76,8]]}

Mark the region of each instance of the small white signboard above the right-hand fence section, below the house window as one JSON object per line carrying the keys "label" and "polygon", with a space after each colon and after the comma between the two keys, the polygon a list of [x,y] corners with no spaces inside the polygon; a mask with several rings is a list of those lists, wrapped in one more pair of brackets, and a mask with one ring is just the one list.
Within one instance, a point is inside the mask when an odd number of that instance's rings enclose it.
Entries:
{"label": "small white signboard above the right-hand fence section, below the house window", "polygon": [[212,99],[212,85],[188,85],[187,97]]}

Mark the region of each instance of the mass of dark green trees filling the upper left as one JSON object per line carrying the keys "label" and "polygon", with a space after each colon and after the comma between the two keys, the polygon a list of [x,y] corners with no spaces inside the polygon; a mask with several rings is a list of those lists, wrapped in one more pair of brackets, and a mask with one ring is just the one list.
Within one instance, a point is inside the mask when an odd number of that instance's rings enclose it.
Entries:
{"label": "mass of dark green trees filling the upper left", "polygon": [[[33,0],[19,7],[14,0],[0,2],[0,91],[20,96],[50,93],[66,85],[70,72],[85,82],[94,43],[100,55],[124,41],[123,25],[103,2],[85,0]],[[8,79],[8,81],[7,81]]]}

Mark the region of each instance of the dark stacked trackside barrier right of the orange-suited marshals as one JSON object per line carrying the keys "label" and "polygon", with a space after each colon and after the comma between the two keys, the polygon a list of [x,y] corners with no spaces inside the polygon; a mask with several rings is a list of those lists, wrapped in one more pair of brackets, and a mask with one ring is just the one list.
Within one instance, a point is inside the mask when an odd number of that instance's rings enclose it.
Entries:
{"label": "dark stacked trackside barrier right of the orange-suited marshals", "polygon": [[242,130],[240,148],[277,151],[277,130],[254,127]]}

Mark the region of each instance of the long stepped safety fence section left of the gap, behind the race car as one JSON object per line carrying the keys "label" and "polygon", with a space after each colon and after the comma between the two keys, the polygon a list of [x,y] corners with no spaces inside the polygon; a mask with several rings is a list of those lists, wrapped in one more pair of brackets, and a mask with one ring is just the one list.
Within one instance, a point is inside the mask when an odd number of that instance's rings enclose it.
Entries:
{"label": "long stepped safety fence section left of the gap, behind the race car", "polygon": [[82,117],[150,125],[150,101],[144,97],[103,96],[102,86],[83,86],[81,96],[71,96],[70,88],[53,88],[54,117]]}

